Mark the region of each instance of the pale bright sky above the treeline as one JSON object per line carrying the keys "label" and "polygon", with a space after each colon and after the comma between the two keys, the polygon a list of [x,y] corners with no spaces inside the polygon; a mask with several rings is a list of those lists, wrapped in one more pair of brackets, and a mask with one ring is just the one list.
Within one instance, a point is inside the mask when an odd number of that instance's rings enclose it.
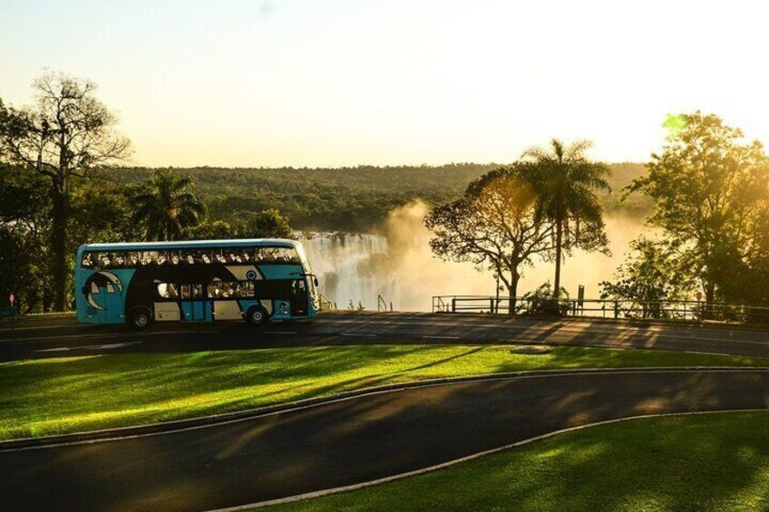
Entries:
{"label": "pale bright sky above the treeline", "polygon": [[0,98],[98,83],[151,167],[644,161],[671,112],[769,142],[762,2],[4,0]]}

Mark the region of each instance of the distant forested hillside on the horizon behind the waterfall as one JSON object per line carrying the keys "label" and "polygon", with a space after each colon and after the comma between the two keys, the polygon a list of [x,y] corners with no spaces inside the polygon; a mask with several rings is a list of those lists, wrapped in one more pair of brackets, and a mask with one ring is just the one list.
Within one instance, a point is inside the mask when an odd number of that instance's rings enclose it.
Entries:
{"label": "distant forested hillside on the horizon behind the waterfall", "polygon": [[[278,208],[298,229],[369,231],[393,208],[415,198],[441,203],[462,194],[467,184],[496,164],[447,164],[438,167],[372,167],[341,169],[174,169],[189,174],[213,218],[238,211]],[[612,164],[615,193],[605,198],[608,212],[638,214],[648,208],[643,198],[618,205],[617,191],[643,174],[642,165]],[[99,177],[114,185],[136,184],[154,169],[102,169]]]}

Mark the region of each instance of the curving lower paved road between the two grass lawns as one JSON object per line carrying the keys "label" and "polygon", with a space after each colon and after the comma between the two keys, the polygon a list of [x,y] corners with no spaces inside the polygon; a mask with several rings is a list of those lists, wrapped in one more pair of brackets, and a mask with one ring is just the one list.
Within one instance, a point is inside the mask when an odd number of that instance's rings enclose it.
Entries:
{"label": "curving lower paved road between the two grass lawns", "polygon": [[5,510],[204,510],[422,469],[599,420],[766,409],[769,371],[554,373],[380,392],[195,430],[0,452]]}

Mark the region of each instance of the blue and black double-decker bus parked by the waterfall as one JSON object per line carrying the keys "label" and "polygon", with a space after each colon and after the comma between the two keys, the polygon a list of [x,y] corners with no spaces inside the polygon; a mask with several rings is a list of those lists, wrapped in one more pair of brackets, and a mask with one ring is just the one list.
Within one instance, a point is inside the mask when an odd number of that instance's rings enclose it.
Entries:
{"label": "blue and black double-decker bus parked by the waterfall", "polygon": [[317,279],[283,239],[89,244],[77,250],[79,322],[130,324],[312,318]]}

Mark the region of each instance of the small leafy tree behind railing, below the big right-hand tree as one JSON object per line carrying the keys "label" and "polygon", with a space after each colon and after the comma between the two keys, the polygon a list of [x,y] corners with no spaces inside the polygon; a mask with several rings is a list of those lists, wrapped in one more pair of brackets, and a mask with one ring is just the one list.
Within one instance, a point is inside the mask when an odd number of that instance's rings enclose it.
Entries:
{"label": "small leafy tree behind railing, below the big right-hand tree", "polygon": [[630,248],[616,280],[599,284],[602,299],[630,301],[647,318],[660,315],[658,303],[662,301],[690,298],[692,283],[680,272],[679,258],[669,246],[641,237]]}

